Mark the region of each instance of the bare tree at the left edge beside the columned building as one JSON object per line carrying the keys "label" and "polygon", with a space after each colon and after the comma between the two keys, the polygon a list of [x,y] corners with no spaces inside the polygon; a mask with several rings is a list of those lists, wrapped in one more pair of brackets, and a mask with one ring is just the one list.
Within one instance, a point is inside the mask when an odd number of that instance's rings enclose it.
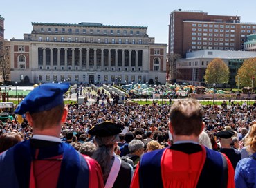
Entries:
{"label": "bare tree at the left edge beside the columned building", "polygon": [[6,46],[4,41],[0,41],[0,77],[3,83],[10,79],[10,46]]}

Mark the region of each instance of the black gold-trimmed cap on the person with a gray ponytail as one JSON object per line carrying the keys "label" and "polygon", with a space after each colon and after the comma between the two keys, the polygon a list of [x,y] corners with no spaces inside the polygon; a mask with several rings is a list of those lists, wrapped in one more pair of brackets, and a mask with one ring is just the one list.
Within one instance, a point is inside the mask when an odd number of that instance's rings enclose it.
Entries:
{"label": "black gold-trimmed cap on the person with a gray ponytail", "polygon": [[98,135],[100,137],[106,137],[111,135],[118,135],[122,132],[124,126],[122,124],[116,124],[113,122],[102,122],[92,126],[88,131],[90,135]]}

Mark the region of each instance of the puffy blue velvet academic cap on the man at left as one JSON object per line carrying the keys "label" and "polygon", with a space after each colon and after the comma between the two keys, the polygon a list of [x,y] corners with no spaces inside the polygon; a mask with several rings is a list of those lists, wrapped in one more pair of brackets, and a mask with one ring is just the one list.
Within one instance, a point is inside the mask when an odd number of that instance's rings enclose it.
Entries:
{"label": "puffy blue velvet academic cap on the man at left", "polygon": [[68,91],[68,88],[68,83],[37,86],[17,106],[15,113],[23,115],[26,112],[37,113],[51,110],[63,103],[63,94]]}

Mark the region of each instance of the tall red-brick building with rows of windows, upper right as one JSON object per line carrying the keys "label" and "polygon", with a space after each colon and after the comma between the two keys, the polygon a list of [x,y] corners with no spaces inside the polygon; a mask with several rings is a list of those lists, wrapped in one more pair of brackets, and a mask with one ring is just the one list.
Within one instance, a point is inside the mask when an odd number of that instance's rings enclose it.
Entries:
{"label": "tall red-brick building with rows of windows, upper right", "polygon": [[244,50],[246,36],[255,32],[256,23],[240,23],[237,15],[174,10],[170,14],[168,52],[184,58],[195,50]]}

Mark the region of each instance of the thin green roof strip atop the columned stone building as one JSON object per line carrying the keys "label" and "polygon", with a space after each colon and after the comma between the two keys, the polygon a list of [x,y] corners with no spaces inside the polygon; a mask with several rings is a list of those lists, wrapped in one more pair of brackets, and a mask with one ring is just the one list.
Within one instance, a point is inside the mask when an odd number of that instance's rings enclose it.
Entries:
{"label": "thin green roof strip atop the columned stone building", "polygon": [[75,27],[98,27],[98,28],[137,28],[137,29],[147,29],[147,26],[111,26],[103,25],[102,23],[91,23],[91,22],[81,22],[81,23],[39,23],[32,22],[32,26],[75,26]]}

